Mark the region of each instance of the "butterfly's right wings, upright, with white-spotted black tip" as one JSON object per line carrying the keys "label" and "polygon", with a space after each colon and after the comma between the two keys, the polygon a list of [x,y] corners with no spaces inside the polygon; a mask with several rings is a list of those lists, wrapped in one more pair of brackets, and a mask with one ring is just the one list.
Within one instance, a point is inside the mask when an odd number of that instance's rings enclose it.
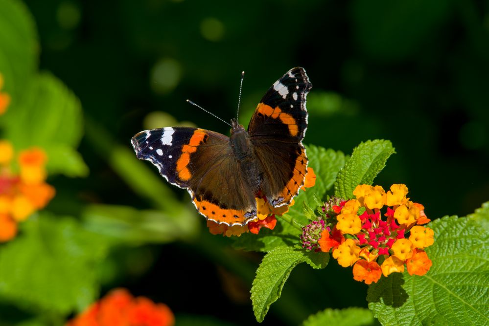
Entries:
{"label": "butterfly's right wings, upright, with white-spotted black tip", "polygon": [[290,204],[304,184],[306,95],[312,85],[301,67],[290,69],[265,93],[248,126],[263,171],[262,193],[275,207]]}

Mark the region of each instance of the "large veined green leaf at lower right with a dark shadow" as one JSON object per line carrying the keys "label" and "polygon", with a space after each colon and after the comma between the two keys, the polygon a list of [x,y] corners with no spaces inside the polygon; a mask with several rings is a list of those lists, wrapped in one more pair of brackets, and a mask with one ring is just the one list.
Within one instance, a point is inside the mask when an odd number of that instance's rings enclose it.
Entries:
{"label": "large veined green leaf at lower right with a dark shadow", "polygon": [[435,243],[424,276],[394,273],[369,288],[367,300],[382,325],[489,324],[489,202],[469,217],[429,223]]}

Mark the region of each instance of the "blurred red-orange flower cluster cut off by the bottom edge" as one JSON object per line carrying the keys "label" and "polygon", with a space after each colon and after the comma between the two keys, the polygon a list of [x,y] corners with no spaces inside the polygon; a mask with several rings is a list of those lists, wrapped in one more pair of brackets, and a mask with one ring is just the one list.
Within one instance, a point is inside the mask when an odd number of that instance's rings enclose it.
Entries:
{"label": "blurred red-orange flower cluster cut off by the bottom edge", "polygon": [[126,289],[115,289],[90,305],[66,326],[172,326],[175,317],[166,304],[133,297]]}

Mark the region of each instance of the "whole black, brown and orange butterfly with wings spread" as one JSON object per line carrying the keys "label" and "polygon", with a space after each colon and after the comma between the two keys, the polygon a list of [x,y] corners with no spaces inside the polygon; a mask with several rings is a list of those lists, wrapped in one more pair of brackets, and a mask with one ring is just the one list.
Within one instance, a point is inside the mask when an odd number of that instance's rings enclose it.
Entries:
{"label": "whole black, brown and orange butterfly with wings spread", "polygon": [[312,85],[302,67],[290,69],[267,90],[248,130],[231,120],[231,136],[165,127],[137,133],[138,158],[153,163],[172,185],[185,188],[197,211],[229,226],[256,219],[256,196],[280,207],[304,184],[307,156],[306,96]]}

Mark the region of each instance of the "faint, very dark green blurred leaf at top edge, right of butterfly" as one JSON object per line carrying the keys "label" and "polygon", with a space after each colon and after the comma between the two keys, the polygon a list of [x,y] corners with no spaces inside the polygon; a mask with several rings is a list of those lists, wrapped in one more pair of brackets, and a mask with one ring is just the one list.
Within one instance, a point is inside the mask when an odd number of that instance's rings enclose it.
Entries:
{"label": "faint, very dark green blurred leaf at top edge, right of butterfly", "polygon": [[369,55],[400,60],[433,38],[452,8],[450,0],[356,0],[352,5],[354,32]]}

